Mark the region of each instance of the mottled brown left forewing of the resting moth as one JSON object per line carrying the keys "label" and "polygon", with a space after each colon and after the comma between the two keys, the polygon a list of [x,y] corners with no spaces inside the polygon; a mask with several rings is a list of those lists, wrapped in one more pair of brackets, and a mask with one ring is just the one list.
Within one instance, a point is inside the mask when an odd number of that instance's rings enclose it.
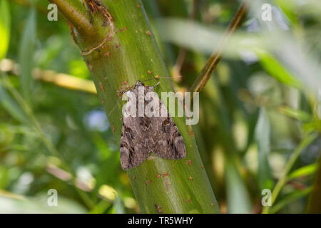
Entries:
{"label": "mottled brown left forewing of the resting moth", "polygon": [[121,167],[128,170],[140,165],[151,151],[146,137],[151,131],[151,119],[123,118],[121,130]]}

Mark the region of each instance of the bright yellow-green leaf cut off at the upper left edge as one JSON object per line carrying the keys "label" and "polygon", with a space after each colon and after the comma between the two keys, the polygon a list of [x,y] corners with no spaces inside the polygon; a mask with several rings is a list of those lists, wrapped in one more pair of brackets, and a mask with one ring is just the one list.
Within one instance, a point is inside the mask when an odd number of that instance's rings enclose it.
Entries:
{"label": "bright yellow-green leaf cut off at the upper left edge", "polygon": [[0,2],[0,60],[6,56],[10,41],[11,16],[7,0]]}

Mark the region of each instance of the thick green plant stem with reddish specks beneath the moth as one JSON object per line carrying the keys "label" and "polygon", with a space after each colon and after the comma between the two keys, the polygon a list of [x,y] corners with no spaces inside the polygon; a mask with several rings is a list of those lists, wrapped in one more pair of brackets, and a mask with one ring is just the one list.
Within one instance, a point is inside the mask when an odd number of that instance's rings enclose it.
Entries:
{"label": "thick green plant stem with reddish specks beneath the moth", "polygon": [[[97,30],[95,36],[100,41],[91,44],[88,42],[91,36],[79,33],[76,26],[73,26],[72,33],[91,71],[116,141],[120,142],[122,105],[119,91],[128,90],[138,80],[154,79],[155,76],[160,78],[160,85],[155,88],[158,95],[161,92],[172,92],[173,86],[141,1],[99,2],[106,6],[109,16],[106,25],[96,19],[103,18],[100,11],[91,13],[94,18],[93,26]],[[61,13],[64,14],[63,11]],[[73,24],[73,21],[69,22]],[[146,81],[148,86],[156,83],[156,79]],[[185,118],[173,119],[183,135],[187,149],[186,159],[165,160],[151,153],[148,160],[128,170],[141,212],[219,213],[192,130],[185,124]]]}

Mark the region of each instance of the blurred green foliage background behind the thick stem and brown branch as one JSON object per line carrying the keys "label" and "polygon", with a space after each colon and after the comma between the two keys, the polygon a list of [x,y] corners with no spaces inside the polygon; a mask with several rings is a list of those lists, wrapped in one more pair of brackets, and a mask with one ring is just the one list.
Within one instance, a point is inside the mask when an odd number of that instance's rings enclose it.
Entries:
{"label": "blurred green foliage background behind the thick stem and brown branch", "polygon": [[[176,90],[192,86],[240,3],[143,0]],[[48,4],[0,0],[0,213],[138,213],[86,63]],[[320,24],[319,0],[251,1],[200,93],[195,138],[223,213],[262,212],[264,189],[277,193],[271,213],[320,208]]]}

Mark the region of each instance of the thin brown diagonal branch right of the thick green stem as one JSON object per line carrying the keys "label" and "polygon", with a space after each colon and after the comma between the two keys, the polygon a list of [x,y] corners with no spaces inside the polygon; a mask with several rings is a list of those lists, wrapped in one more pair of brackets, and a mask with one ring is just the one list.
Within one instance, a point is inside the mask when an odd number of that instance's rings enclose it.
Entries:
{"label": "thin brown diagonal branch right of the thick green stem", "polygon": [[204,86],[208,82],[208,79],[210,79],[210,76],[212,75],[213,71],[215,71],[218,63],[220,63],[220,60],[222,59],[224,48],[226,46],[226,43],[228,43],[228,38],[230,38],[232,33],[240,27],[243,20],[245,19],[247,14],[246,8],[246,2],[243,1],[243,4],[236,12],[234,18],[232,19],[232,21],[230,21],[223,39],[220,41],[220,43],[218,43],[218,49],[214,51],[212,56],[210,56],[210,58],[208,59],[208,62],[205,64],[205,67],[200,72],[198,78],[196,78],[193,86],[190,87],[190,92],[200,92],[201,90],[203,90]]}

